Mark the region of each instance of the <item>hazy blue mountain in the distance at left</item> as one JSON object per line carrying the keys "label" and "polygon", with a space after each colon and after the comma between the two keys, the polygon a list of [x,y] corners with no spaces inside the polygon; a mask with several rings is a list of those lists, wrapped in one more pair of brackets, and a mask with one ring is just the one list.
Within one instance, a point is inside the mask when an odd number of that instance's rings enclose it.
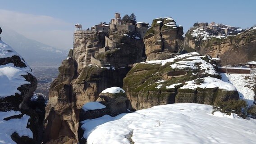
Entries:
{"label": "hazy blue mountain in the distance at left", "polygon": [[[3,29],[3,28],[2,28]],[[56,49],[10,29],[3,29],[1,40],[10,45],[32,67],[59,66],[68,51]]]}

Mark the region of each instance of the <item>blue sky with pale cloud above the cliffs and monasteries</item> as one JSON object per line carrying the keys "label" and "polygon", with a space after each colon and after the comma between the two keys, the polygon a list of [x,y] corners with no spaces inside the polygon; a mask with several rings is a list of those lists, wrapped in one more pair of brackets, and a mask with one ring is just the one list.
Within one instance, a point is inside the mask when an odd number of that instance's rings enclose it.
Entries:
{"label": "blue sky with pale cloud above the cliffs and monasteries", "polygon": [[[137,21],[173,17],[184,33],[195,22],[247,28],[256,24],[256,0],[0,0],[0,27],[45,44],[70,49],[76,23],[83,29],[110,22],[114,13]],[[5,32],[5,31],[4,31]]]}

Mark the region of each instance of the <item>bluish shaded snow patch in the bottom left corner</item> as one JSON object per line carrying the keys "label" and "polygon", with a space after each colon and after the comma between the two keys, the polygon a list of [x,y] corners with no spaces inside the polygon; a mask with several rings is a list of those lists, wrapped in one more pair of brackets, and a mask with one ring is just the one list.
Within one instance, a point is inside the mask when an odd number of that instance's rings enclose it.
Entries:
{"label": "bluish shaded snow patch in the bottom left corner", "polygon": [[7,117],[20,115],[19,111],[0,112],[0,143],[1,144],[16,144],[11,135],[16,132],[20,137],[27,136],[33,138],[33,133],[27,128],[29,116],[23,115],[22,118],[12,118],[8,121],[4,120]]}

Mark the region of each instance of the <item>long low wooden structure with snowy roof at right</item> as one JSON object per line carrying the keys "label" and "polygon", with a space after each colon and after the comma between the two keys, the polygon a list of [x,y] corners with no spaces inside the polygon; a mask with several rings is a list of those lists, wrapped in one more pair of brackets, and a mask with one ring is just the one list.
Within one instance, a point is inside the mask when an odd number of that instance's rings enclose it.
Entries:
{"label": "long low wooden structure with snowy roof at right", "polygon": [[220,72],[220,73],[250,74],[251,73],[251,68],[246,68],[246,67],[218,67],[218,72]]}

